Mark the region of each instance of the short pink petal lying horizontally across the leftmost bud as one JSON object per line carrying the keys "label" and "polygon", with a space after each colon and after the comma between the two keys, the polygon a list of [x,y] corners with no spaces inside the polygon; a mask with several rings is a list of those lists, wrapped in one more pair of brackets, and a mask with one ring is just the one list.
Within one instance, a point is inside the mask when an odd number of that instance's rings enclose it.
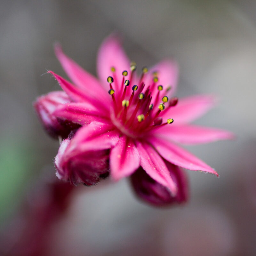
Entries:
{"label": "short pink petal lying horizontally across the leftmost bud", "polygon": [[107,114],[104,115],[102,111],[87,102],[61,104],[53,115],[80,125],[90,124],[92,121],[105,123],[109,120]]}

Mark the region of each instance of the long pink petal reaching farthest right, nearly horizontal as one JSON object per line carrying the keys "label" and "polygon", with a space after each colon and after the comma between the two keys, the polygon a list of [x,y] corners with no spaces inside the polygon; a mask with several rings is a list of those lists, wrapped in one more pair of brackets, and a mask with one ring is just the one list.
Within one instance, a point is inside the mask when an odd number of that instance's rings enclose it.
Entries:
{"label": "long pink petal reaching farthest right, nearly horizontal", "polygon": [[232,132],[197,125],[165,125],[155,135],[159,138],[190,145],[234,138]]}

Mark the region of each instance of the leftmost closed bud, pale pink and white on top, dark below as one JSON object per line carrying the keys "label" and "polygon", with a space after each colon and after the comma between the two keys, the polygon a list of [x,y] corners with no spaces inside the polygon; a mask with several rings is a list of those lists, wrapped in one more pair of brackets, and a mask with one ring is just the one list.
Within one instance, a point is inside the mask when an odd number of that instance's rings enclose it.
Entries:
{"label": "leftmost closed bud, pale pink and white on top, dark below", "polygon": [[80,127],[78,124],[57,119],[52,115],[54,110],[63,103],[70,102],[65,92],[56,91],[40,96],[34,102],[34,108],[46,132],[57,139],[58,136],[67,138],[70,131]]}

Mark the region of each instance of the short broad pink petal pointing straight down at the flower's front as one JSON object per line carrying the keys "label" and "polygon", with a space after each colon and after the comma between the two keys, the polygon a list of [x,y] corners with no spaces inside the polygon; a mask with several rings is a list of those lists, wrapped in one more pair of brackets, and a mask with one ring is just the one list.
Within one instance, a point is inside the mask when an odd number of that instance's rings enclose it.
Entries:
{"label": "short broad pink petal pointing straight down at the flower's front", "polygon": [[132,140],[119,138],[110,153],[110,172],[114,180],[131,175],[140,165],[140,156]]}

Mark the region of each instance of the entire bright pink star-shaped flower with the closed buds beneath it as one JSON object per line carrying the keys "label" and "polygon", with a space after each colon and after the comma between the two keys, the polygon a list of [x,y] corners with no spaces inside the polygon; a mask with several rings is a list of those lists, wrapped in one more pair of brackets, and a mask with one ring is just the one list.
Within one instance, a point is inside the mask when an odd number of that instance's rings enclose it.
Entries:
{"label": "entire bright pink star-shaped flower with the closed buds beneath it", "polygon": [[60,45],[55,52],[75,85],[49,71],[67,101],[55,100],[56,104],[46,107],[42,115],[37,107],[39,98],[36,110],[44,126],[50,123],[57,135],[62,136],[60,124],[68,123],[68,132],[72,130],[70,124],[82,126],[60,145],[55,158],[60,179],[92,185],[108,172],[113,180],[132,175],[139,196],[152,204],[167,204],[187,198],[187,183],[179,167],[218,176],[177,143],[208,143],[233,135],[189,124],[214,106],[214,98],[197,95],[178,102],[177,97],[171,97],[178,80],[175,62],[163,60],[150,69],[144,67],[138,77],[136,64],[130,64],[119,39],[112,35],[98,53],[98,80],[69,59]]}

